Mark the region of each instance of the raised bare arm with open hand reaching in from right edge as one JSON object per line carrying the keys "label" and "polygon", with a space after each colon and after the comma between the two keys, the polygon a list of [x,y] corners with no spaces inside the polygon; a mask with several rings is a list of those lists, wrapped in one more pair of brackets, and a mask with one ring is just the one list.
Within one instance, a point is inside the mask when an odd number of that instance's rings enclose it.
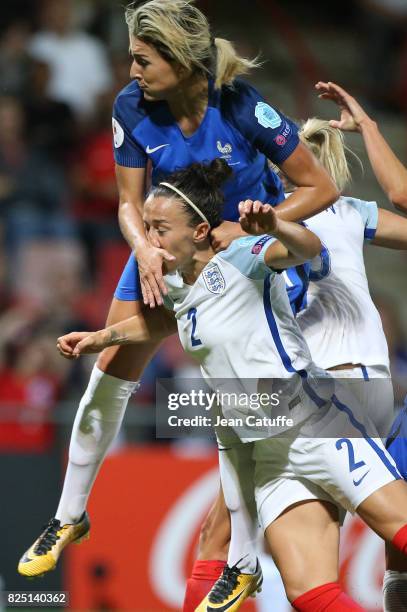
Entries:
{"label": "raised bare arm with open hand reaching in from right edge", "polygon": [[377,123],[355,98],[336,83],[320,81],[315,87],[320,98],[332,100],[339,107],[340,119],[330,121],[330,125],[344,132],[359,132],[362,135],[380,186],[398,210],[407,212],[407,168],[383,138]]}

